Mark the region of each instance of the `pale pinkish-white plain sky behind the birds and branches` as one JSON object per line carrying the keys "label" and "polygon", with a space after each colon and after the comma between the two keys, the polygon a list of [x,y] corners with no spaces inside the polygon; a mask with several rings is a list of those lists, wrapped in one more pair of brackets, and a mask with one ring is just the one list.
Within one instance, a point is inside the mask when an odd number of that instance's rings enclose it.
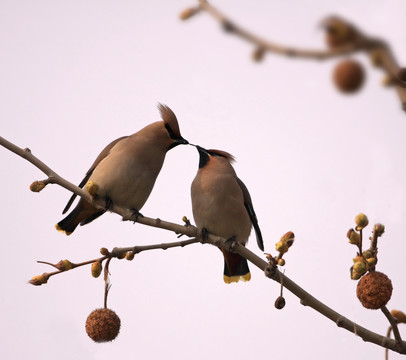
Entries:
{"label": "pale pinkish-white plain sky behind the birds and branches", "polygon": [[[207,14],[181,22],[193,0],[0,2],[0,135],[66,179],[79,183],[111,140],[159,120],[157,102],[178,117],[193,143],[226,150],[250,189],[265,250],[287,231],[296,242],[286,275],[351,320],[385,334],[380,311],[364,309],[349,268],[356,249],[346,232],[365,212],[386,232],[377,269],[393,281],[389,309],[406,311],[406,114],[382,73],[367,68],[363,91],[339,94],[337,60],[268,55],[224,34]],[[339,14],[392,45],[406,64],[404,1],[242,1],[213,3],[278,43],[324,48],[317,24]],[[113,260],[109,306],[117,339],[95,344],[88,314],[103,305],[104,282],[80,268],[34,287],[52,269],[36,260],[72,262],[99,248],[171,242],[170,232],[106,214],[70,237],[54,225],[70,194],[29,185],[46,176],[0,149],[2,359],[383,359],[384,350],[339,329],[251,266],[249,283],[225,285],[220,252],[208,245],[157,250],[133,262]],[[142,213],[181,223],[192,217],[192,147],[167,155]],[[249,248],[261,255],[252,235]],[[405,334],[406,328],[400,330]],[[390,359],[403,356],[391,354]]]}

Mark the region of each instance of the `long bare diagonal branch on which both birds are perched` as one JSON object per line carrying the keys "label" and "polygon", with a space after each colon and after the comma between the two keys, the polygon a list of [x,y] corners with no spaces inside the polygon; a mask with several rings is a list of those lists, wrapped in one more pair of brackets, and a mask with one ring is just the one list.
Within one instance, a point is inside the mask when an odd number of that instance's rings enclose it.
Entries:
{"label": "long bare diagonal branch on which both birds are perched", "polygon": [[[39,168],[41,171],[43,171],[48,176],[52,176],[53,180],[54,180],[53,183],[58,184],[64,188],[66,188],[67,190],[72,191],[75,194],[81,196],[85,200],[90,201],[93,204],[98,204],[102,207],[102,205],[100,204],[100,203],[103,203],[102,200],[94,202],[92,197],[86,191],[84,191],[81,188],[73,185],[72,183],[62,179],[53,170],[51,170],[48,166],[46,166],[39,159],[37,159],[31,153],[31,151],[23,150],[23,149],[15,146],[14,144],[8,142],[7,140],[5,140],[2,137],[0,137],[0,145],[6,147],[7,149],[13,151],[17,155],[28,160],[29,162],[31,162],[33,165],[35,165],[37,168]],[[124,208],[118,207],[113,204],[113,207],[109,210],[114,213],[117,213],[118,215],[121,215],[123,217],[123,220],[133,220],[132,211],[130,211],[128,209],[124,209]],[[333,309],[329,308],[327,305],[323,304],[321,301],[317,300],[314,296],[309,294],[307,291],[302,289],[299,285],[297,285],[287,276],[282,274],[278,269],[276,269],[276,267],[271,266],[268,262],[266,262],[259,256],[255,255],[253,252],[248,250],[245,246],[239,245],[237,242],[233,242],[230,245],[230,242],[227,241],[227,239],[223,239],[223,238],[213,235],[213,234],[209,234],[203,240],[201,237],[201,231],[198,228],[196,228],[195,226],[190,225],[188,222],[186,222],[186,225],[179,225],[179,224],[174,224],[171,222],[163,221],[160,219],[152,219],[152,218],[141,217],[141,216],[138,217],[137,222],[140,224],[143,224],[143,225],[153,226],[153,227],[157,227],[160,229],[173,231],[176,234],[184,234],[189,237],[194,237],[195,239],[180,241],[177,243],[160,244],[160,245],[152,245],[152,246],[144,246],[144,247],[135,246],[135,247],[129,247],[129,248],[115,248],[115,249],[113,249],[114,253],[136,251],[137,248],[138,248],[139,252],[145,251],[145,250],[157,249],[157,248],[166,249],[166,248],[175,247],[175,246],[185,246],[186,244],[194,243],[197,241],[200,241],[202,243],[209,243],[214,246],[221,247],[221,248],[224,248],[229,251],[233,251],[233,252],[245,257],[251,263],[253,263],[258,268],[263,270],[267,277],[275,280],[278,283],[280,283],[282,281],[281,279],[283,279],[284,287],[287,290],[289,290],[291,293],[296,295],[301,300],[301,304],[303,304],[305,306],[310,306],[311,308],[313,308],[320,314],[322,314],[325,317],[329,318],[330,320],[334,321],[337,324],[337,326],[342,327],[342,328],[360,336],[364,341],[368,341],[368,342],[377,344],[379,346],[393,350],[400,354],[406,354],[406,342],[405,341],[398,341],[398,340],[390,339],[388,337],[376,334],[376,333],[352,322],[351,320],[345,318],[338,312],[334,311]],[[108,258],[108,256],[103,257],[103,259],[106,259],[106,258]],[[89,263],[89,262],[85,262],[85,263]],[[59,272],[60,271],[55,272],[55,273],[59,273]],[[51,273],[51,275],[53,275],[55,273]],[[47,279],[48,278],[46,278],[46,280]],[[46,282],[46,280],[45,280],[45,282]]]}

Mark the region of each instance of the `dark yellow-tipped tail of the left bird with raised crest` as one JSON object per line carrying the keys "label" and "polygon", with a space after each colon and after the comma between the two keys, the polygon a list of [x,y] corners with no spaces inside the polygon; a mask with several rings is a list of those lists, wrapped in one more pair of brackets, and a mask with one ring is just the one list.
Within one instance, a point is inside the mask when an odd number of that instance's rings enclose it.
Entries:
{"label": "dark yellow-tipped tail of the left bird with raised crest", "polygon": [[70,235],[75,231],[79,224],[88,224],[100,215],[103,215],[104,212],[104,210],[95,209],[87,201],[80,200],[69,215],[55,225],[55,228],[66,235]]}

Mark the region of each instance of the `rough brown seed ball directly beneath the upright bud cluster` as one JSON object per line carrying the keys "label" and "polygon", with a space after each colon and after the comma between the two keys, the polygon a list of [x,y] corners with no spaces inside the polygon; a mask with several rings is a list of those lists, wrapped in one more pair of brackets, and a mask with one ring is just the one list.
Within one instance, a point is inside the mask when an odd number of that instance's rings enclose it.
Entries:
{"label": "rough brown seed ball directly beneath the upright bud cluster", "polygon": [[357,297],[363,307],[380,309],[392,296],[392,281],[379,271],[364,275],[357,285]]}

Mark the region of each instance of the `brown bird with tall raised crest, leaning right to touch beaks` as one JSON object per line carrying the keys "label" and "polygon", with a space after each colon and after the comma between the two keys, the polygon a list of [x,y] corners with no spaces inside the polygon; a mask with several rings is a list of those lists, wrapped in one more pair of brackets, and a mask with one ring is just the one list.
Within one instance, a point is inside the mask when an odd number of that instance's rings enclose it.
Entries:
{"label": "brown bird with tall raised crest, leaning right to touch beaks", "polygon": [[[106,210],[112,203],[139,213],[154,187],[162,168],[166,152],[177,145],[188,144],[179,130],[173,111],[158,104],[163,121],[147,125],[137,133],[120,137],[97,157],[79,184],[93,198],[104,199]],[[65,214],[76,195],[72,195],[63,214]],[[70,235],[76,227],[92,222],[106,210],[96,209],[84,199],[80,199],[72,212],[55,227]]]}

